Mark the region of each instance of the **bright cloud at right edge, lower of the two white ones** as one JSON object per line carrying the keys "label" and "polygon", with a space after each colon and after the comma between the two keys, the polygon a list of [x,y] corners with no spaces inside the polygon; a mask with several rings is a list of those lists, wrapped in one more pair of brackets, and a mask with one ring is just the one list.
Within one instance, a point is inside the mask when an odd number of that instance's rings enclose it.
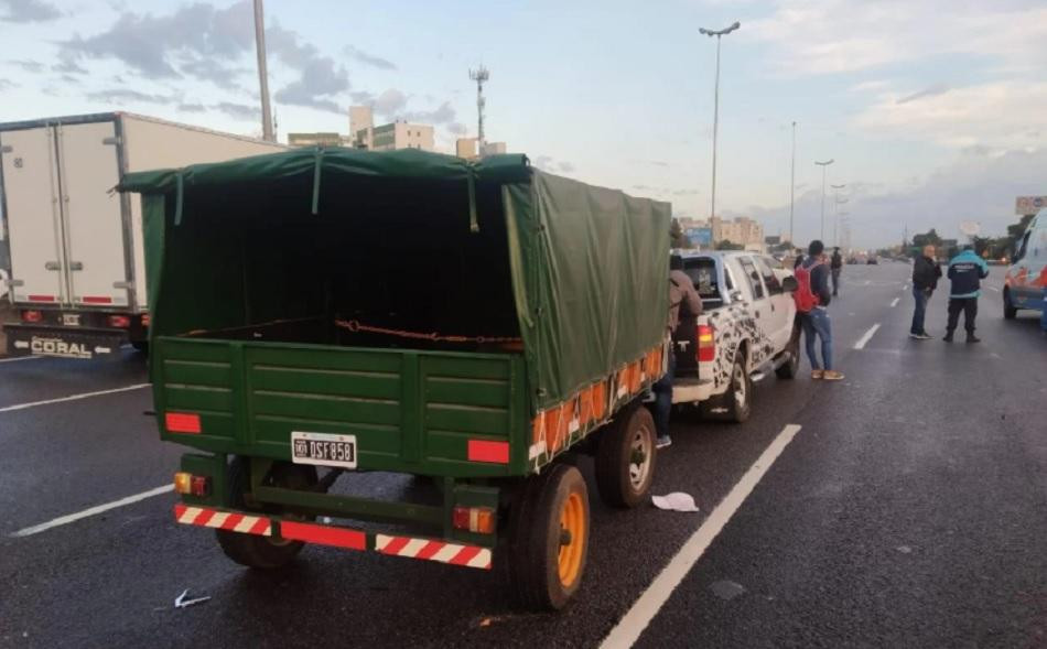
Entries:
{"label": "bright cloud at right edge, lower of the two white ones", "polygon": [[853,123],[876,137],[957,149],[975,144],[997,151],[1028,149],[1040,145],[1034,133],[1047,131],[1044,106],[1047,82],[1006,80],[925,93],[918,101],[885,94]]}

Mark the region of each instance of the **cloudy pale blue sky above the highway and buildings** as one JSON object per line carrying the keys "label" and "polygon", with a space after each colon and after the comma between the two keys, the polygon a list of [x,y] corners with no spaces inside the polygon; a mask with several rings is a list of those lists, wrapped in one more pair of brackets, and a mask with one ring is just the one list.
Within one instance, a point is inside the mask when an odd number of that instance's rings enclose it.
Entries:
{"label": "cloudy pale blue sky above the highway and buildings", "polygon": [[[822,169],[856,247],[972,220],[1003,235],[1047,194],[1043,0],[267,0],[281,139],[376,121],[476,134],[468,72],[490,71],[485,130],[537,166],[679,217],[822,236]],[[248,0],[0,0],[0,121],[127,110],[259,136]],[[833,190],[825,231],[833,241]]]}

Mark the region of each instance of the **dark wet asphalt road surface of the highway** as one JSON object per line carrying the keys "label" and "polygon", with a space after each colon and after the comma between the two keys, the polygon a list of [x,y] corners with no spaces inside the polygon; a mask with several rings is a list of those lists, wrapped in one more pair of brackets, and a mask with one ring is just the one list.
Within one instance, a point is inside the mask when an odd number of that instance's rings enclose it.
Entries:
{"label": "dark wet asphalt road surface of the highway", "polygon": [[[994,268],[983,343],[910,340],[908,272],[845,269],[830,311],[846,380],[805,363],[757,386],[742,426],[678,417],[654,490],[701,511],[594,499],[585,583],[560,614],[515,610],[493,573],[376,553],[310,547],[255,574],[174,523],[170,493],[13,537],[168,485],[182,448],[142,414],[139,356],[0,361],[0,646],[598,646],[787,424],[801,429],[632,629],[639,646],[1047,646],[1047,339],[1032,314],[1003,321]],[[928,328],[943,325],[936,295]],[[185,588],[212,598],[174,609]]]}

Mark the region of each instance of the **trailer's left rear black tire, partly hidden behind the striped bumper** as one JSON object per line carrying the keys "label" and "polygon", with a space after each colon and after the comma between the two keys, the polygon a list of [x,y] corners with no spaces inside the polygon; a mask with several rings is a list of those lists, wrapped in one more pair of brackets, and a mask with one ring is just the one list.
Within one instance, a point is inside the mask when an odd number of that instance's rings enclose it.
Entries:
{"label": "trailer's left rear black tire, partly hidden behind the striped bumper", "polygon": [[[272,486],[291,489],[303,489],[317,483],[314,467],[288,462],[274,464],[270,470],[270,476]],[[233,504],[233,507],[251,511],[244,499],[244,494],[250,487],[250,459],[240,456],[234,457],[229,464],[226,480],[229,485],[229,502]],[[279,513],[279,511],[268,510],[265,513]],[[302,551],[304,545],[301,541],[241,534],[226,530],[215,530],[215,536],[218,538],[218,544],[226,556],[240,565],[262,570],[274,570],[287,565]]]}

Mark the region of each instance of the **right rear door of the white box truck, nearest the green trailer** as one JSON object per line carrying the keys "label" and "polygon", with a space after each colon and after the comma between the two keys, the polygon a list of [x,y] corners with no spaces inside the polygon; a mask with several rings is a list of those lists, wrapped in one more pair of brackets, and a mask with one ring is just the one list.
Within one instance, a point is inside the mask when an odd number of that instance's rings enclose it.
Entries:
{"label": "right rear door of the white box truck, nearest the green trailer", "polygon": [[[72,302],[126,306],[127,246],[120,194],[116,123],[55,127],[58,177],[66,224],[66,257]],[[12,237],[13,238],[13,237]]]}

